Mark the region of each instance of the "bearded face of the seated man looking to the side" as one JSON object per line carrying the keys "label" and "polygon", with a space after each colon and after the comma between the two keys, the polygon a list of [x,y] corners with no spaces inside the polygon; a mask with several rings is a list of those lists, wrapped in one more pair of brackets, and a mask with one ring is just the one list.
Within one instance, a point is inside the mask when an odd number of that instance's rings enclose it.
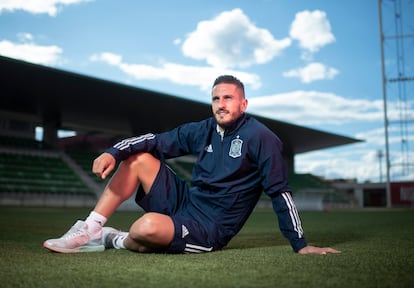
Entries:
{"label": "bearded face of the seated man looking to the side", "polygon": [[221,83],[214,86],[211,99],[214,118],[223,130],[247,108],[247,99],[234,84]]}

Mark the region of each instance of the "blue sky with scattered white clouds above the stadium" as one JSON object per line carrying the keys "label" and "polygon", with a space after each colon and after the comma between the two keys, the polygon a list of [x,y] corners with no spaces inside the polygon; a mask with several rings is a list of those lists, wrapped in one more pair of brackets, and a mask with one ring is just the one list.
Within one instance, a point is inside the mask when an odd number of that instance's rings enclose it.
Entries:
{"label": "blue sky with scattered white clouds above the stadium", "polygon": [[[412,6],[403,11],[412,15]],[[394,33],[389,19],[385,34]],[[413,34],[414,19],[406,22]],[[405,45],[413,51],[414,40]],[[0,55],[206,103],[215,77],[230,73],[245,83],[248,112],[364,140],[295,157],[297,172],[326,178],[380,178],[380,48],[376,0],[0,0]],[[413,55],[405,57],[413,76]],[[406,85],[413,163],[414,87]],[[397,121],[398,99],[388,97]],[[392,163],[400,162],[401,139],[390,127]],[[414,179],[414,167],[395,167],[393,180]]]}

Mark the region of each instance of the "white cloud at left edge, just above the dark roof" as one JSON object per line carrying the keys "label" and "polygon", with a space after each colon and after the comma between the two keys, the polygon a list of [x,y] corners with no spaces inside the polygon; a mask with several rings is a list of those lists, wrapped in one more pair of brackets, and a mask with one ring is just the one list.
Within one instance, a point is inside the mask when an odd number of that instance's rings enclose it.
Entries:
{"label": "white cloud at left edge, just above the dark roof", "polygon": [[33,36],[29,33],[21,33],[19,38],[26,40],[25,43],[13,43],[8,40],[0,41],[0,55],[50,66],[62,62],[62,48],[56,45],[38,45],[31,41]]}

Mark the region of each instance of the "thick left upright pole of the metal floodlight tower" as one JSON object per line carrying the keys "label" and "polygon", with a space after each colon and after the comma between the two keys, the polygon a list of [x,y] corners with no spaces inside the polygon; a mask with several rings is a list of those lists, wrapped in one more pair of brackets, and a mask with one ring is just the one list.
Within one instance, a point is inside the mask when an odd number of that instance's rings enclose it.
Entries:
{"label": "thick left upright pole of the metal floodlight tower", "polygon": [[384,107],[384,134],[385,134],[385,169],[386,169],[386,201],[387,207],[392,207],[391,203],[391,181],[390,181],[390,148],[388,139],[388,111],[387,111],[387,78],[385,75],[384,59],[384,31],[382,28],[382,0],[378,0],[378,14],[380,27],[380,46],[381,46],[381,72],[382,72],[382,98]]}

